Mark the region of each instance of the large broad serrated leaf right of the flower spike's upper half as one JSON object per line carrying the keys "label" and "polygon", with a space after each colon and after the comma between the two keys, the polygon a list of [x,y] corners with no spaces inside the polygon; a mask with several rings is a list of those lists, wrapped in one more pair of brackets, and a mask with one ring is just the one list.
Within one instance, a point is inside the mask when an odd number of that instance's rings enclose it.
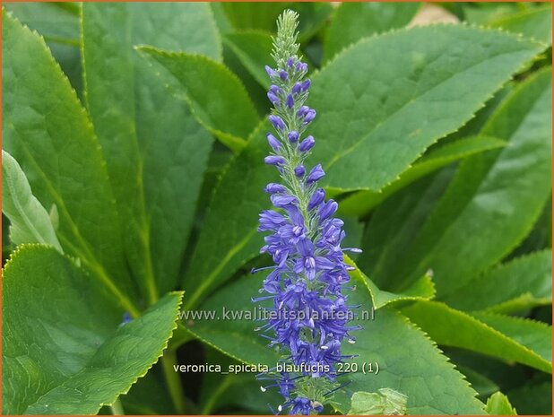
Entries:
{"label": "large broad serrated leaf right of the flower spike's upper half", "polygon": [[373,191],[390,184],[540,50],[463,25],[399,30],[345,50],[313,77],[308,101],[318,112],[310,133],[319,139],[313,160],[327,172],[323,184]]}

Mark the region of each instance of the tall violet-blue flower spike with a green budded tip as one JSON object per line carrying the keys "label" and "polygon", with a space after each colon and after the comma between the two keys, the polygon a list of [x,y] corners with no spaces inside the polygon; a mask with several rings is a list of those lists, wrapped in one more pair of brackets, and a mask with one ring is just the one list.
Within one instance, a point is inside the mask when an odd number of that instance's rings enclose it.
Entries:
{"label": "tall violet-blue flower spike with a green budded tip", "polygon": [[269,271],[260,290],[264,295],[253,301],[270,303],[264,307],[269,320],[255,330],[283,355],[275,368],[258,375],[269,381],[260,389],[275,388],[283,396],[273,413],[308,415],[321,413],[342,387],[337,363],[351,358],[342,355],[342,342],[354,343],[350,332],[359,326],[348,326],[351,307],[342,293],[351,269],[344,262],[347,249],[341,248],[344,223],[333,217],[338,205],[325,201],[325,190],[317,185],[323,167],[305,164],[316,140],[304,133],[316,110],[304,104],[311,81],[299,56],[298,17],[290,10],[281,14],[273,39],[276,67],[265,66],[273,83],[268,98],[275,132],[266,136],[272,152],[264,161],[277,167],[282,184],[264,188],[275,210],[260,214],[258,230],[272,233],[261,253],[272,256],[273,265],[253,270]]}

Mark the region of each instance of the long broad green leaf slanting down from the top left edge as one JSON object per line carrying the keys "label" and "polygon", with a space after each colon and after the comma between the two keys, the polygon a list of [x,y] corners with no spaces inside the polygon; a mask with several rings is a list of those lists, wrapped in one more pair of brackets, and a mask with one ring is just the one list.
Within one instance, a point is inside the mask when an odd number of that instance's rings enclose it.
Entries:
{"label": "long broad green leaf slanting down from the top left edge", "polygon": [[3,147],[21,165],[40,204],[56,204],[57,238],[65,252],[79,257],[117,302],[136,312],[134,282],[91,121],[44,41],[4,11],[2,18],[3,100],[10,103],[4,107]]}

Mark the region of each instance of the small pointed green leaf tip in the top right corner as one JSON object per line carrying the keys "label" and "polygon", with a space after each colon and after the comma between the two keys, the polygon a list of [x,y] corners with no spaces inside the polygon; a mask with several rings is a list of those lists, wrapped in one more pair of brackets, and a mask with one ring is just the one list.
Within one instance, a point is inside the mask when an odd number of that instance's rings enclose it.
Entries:
{"label": "small pointed green leaf tip in the top right corner", "polygon": [[508,13],[485,23],[491,28],[501,28],[521,33],[550,45],[552,43],[552,6],[544,4],[529,7],[516,13]]}

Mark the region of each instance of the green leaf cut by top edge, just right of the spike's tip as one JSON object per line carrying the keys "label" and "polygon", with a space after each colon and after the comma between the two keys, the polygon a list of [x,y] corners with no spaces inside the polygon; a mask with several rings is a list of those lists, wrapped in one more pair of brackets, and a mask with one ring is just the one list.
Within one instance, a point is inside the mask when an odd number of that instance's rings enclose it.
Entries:
{"label": "green leaf cut by top edge, just right of the spike's tip", "polygon": [[333,14],[324,43],[325,61],[359,39],[406,26],[418,3],[342,3]]}

